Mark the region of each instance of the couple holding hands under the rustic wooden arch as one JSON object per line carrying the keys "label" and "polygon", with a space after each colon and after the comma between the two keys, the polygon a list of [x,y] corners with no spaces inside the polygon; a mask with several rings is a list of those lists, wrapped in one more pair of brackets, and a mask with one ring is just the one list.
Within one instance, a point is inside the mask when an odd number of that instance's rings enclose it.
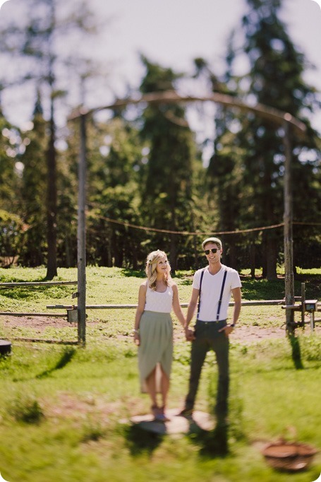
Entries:
{"label": "couple holding hands under the rustic wooden arch", "polygon": [[[150,395],[152,414],[157,421],[168,421],[165,409],[173,360],[173,324],[171,310],[181,323],[186,340],[191,342],[190,377],[185,405],[178,415],[193,416],[202,365],[207,351],[217,359],[218,382],[215,413],[226,418],[229,396],[229,335],[241,311],[241,281],[235,269],[221,263],[222,242],[208,237],[202,242],[207,266],[195,272],[193,292],[186,317],[181,310],[178,288],[171,279],[166,254],[159,249],[147,256],[147,279],[140,285],[135,315],[134,339],[138,345],[138,368],[143,392]],[[227,323],[231,295],[234,312]],[[194,329],[189,324],[198,307]],[[157,403],[160,393],[161,404]]]}

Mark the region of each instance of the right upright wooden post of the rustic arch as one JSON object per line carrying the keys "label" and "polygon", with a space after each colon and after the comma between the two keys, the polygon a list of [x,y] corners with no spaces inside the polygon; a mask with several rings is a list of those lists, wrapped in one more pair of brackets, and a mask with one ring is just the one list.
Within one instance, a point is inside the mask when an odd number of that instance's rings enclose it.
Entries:
{"label": "right upright wooden post of the rustic arch", "polygon": [[[293,235],[292,235],[292,185],[291,185],[291,140],[290,124],[284,121],[284,281],[285,304],[294,304],[294,275],[293,275]],[[286,309],[286,332],[294,333],[294,311]]]}

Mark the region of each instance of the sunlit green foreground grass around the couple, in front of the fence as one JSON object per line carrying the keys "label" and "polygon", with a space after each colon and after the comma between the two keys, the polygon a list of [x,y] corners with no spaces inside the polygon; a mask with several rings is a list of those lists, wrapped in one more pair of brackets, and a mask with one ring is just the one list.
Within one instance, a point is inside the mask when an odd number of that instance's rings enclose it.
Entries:
{"label": "sunlit green foreground grass around the couple, in front of the fence", "polygon": [[[289,474],[269,469],[259,447],[281,436],[320,447],[320,409],[313,396],[319,389],[320,340],[310,336],[301,343],[303,370],[293,368],[286,339],[231,349],[229,453],[225,457],[202,456],[204,440],[193,434],[159,438],[135,434],[130,424],[119,423],[149,411],[147,396],[138,388],[134,346],[97,343],[75,348],[66,360],[66,348],[20,344],[0,364],[1,474],[13,482],[98,482],[108,471],[116,481],[149,481],[153,470],[166,481],[239,481],[241,474],[241,480],[250,482],[287,482]],[[173,408],[181,406],[186,393],[188,351],[184,343],[175,348],[169,401]],[[197,408],[205,411],[211,410],[216,392],[213,365],[210,353],[197,402]],[[37,425],[22,423],[8,413],[8,406],[14,406],[23,393],[25,400],[36,400],[41,408],[43,416]],[[21,400],[23,408],[28,406]],[[117,476],[119,466],[121,476]],[[308,472],[291,475],[291,480],[315,480],[320,469],[319,457]]]}

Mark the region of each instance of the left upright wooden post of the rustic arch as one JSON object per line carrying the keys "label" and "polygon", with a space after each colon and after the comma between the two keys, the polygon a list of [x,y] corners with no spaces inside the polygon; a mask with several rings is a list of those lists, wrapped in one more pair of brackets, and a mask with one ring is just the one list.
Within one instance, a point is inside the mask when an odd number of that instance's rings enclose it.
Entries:
{"label": "left upright wooden post of the rustic arch", "polygon": [[86,116],[80,116],[80,156],[78,165],[78,343],[86,343]]}

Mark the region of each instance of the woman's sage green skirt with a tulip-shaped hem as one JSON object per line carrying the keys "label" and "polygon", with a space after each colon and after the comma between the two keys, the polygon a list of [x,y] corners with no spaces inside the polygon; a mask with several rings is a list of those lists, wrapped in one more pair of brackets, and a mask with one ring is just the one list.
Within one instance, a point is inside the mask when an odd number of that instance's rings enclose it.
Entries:
{"label": "woman's sage green skirt with a tulip-shaped hem", "polygon": [[138,347],[138,369],[140,389],[146,393],[145,380],[157,368],[157,392],[160,392],[160,379],[164,370],[171,376],[173,360],[173,322],[170,313],[143,312],[140,318],[140,346]]}

